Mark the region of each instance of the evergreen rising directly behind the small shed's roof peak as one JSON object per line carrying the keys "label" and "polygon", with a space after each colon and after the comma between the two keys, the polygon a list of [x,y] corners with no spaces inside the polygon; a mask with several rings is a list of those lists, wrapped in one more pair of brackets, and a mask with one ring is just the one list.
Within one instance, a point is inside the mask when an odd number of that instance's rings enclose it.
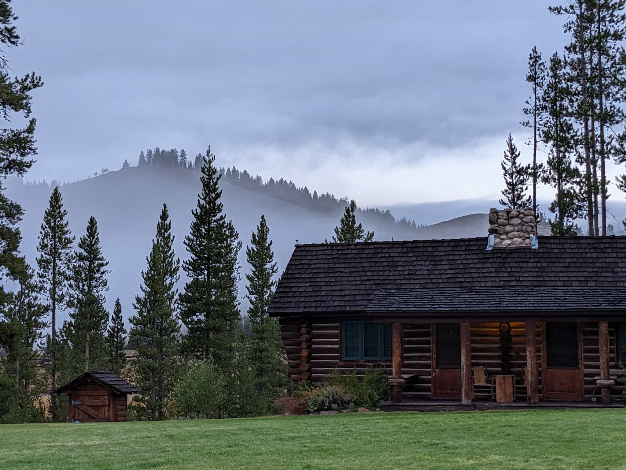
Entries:
{"label": "evergreen rising directly behind the small shed's roof peak", "polygon": [[[91,216],[87,232],[78,241],[78,251],[69,279],[69,341],[77,353],[74,373],[106,365],[105,331],[109,315],[105,309],[108,291],[108,261],[102,254],[98,222]],[[78,355],[80,354],[80,355]]]}

